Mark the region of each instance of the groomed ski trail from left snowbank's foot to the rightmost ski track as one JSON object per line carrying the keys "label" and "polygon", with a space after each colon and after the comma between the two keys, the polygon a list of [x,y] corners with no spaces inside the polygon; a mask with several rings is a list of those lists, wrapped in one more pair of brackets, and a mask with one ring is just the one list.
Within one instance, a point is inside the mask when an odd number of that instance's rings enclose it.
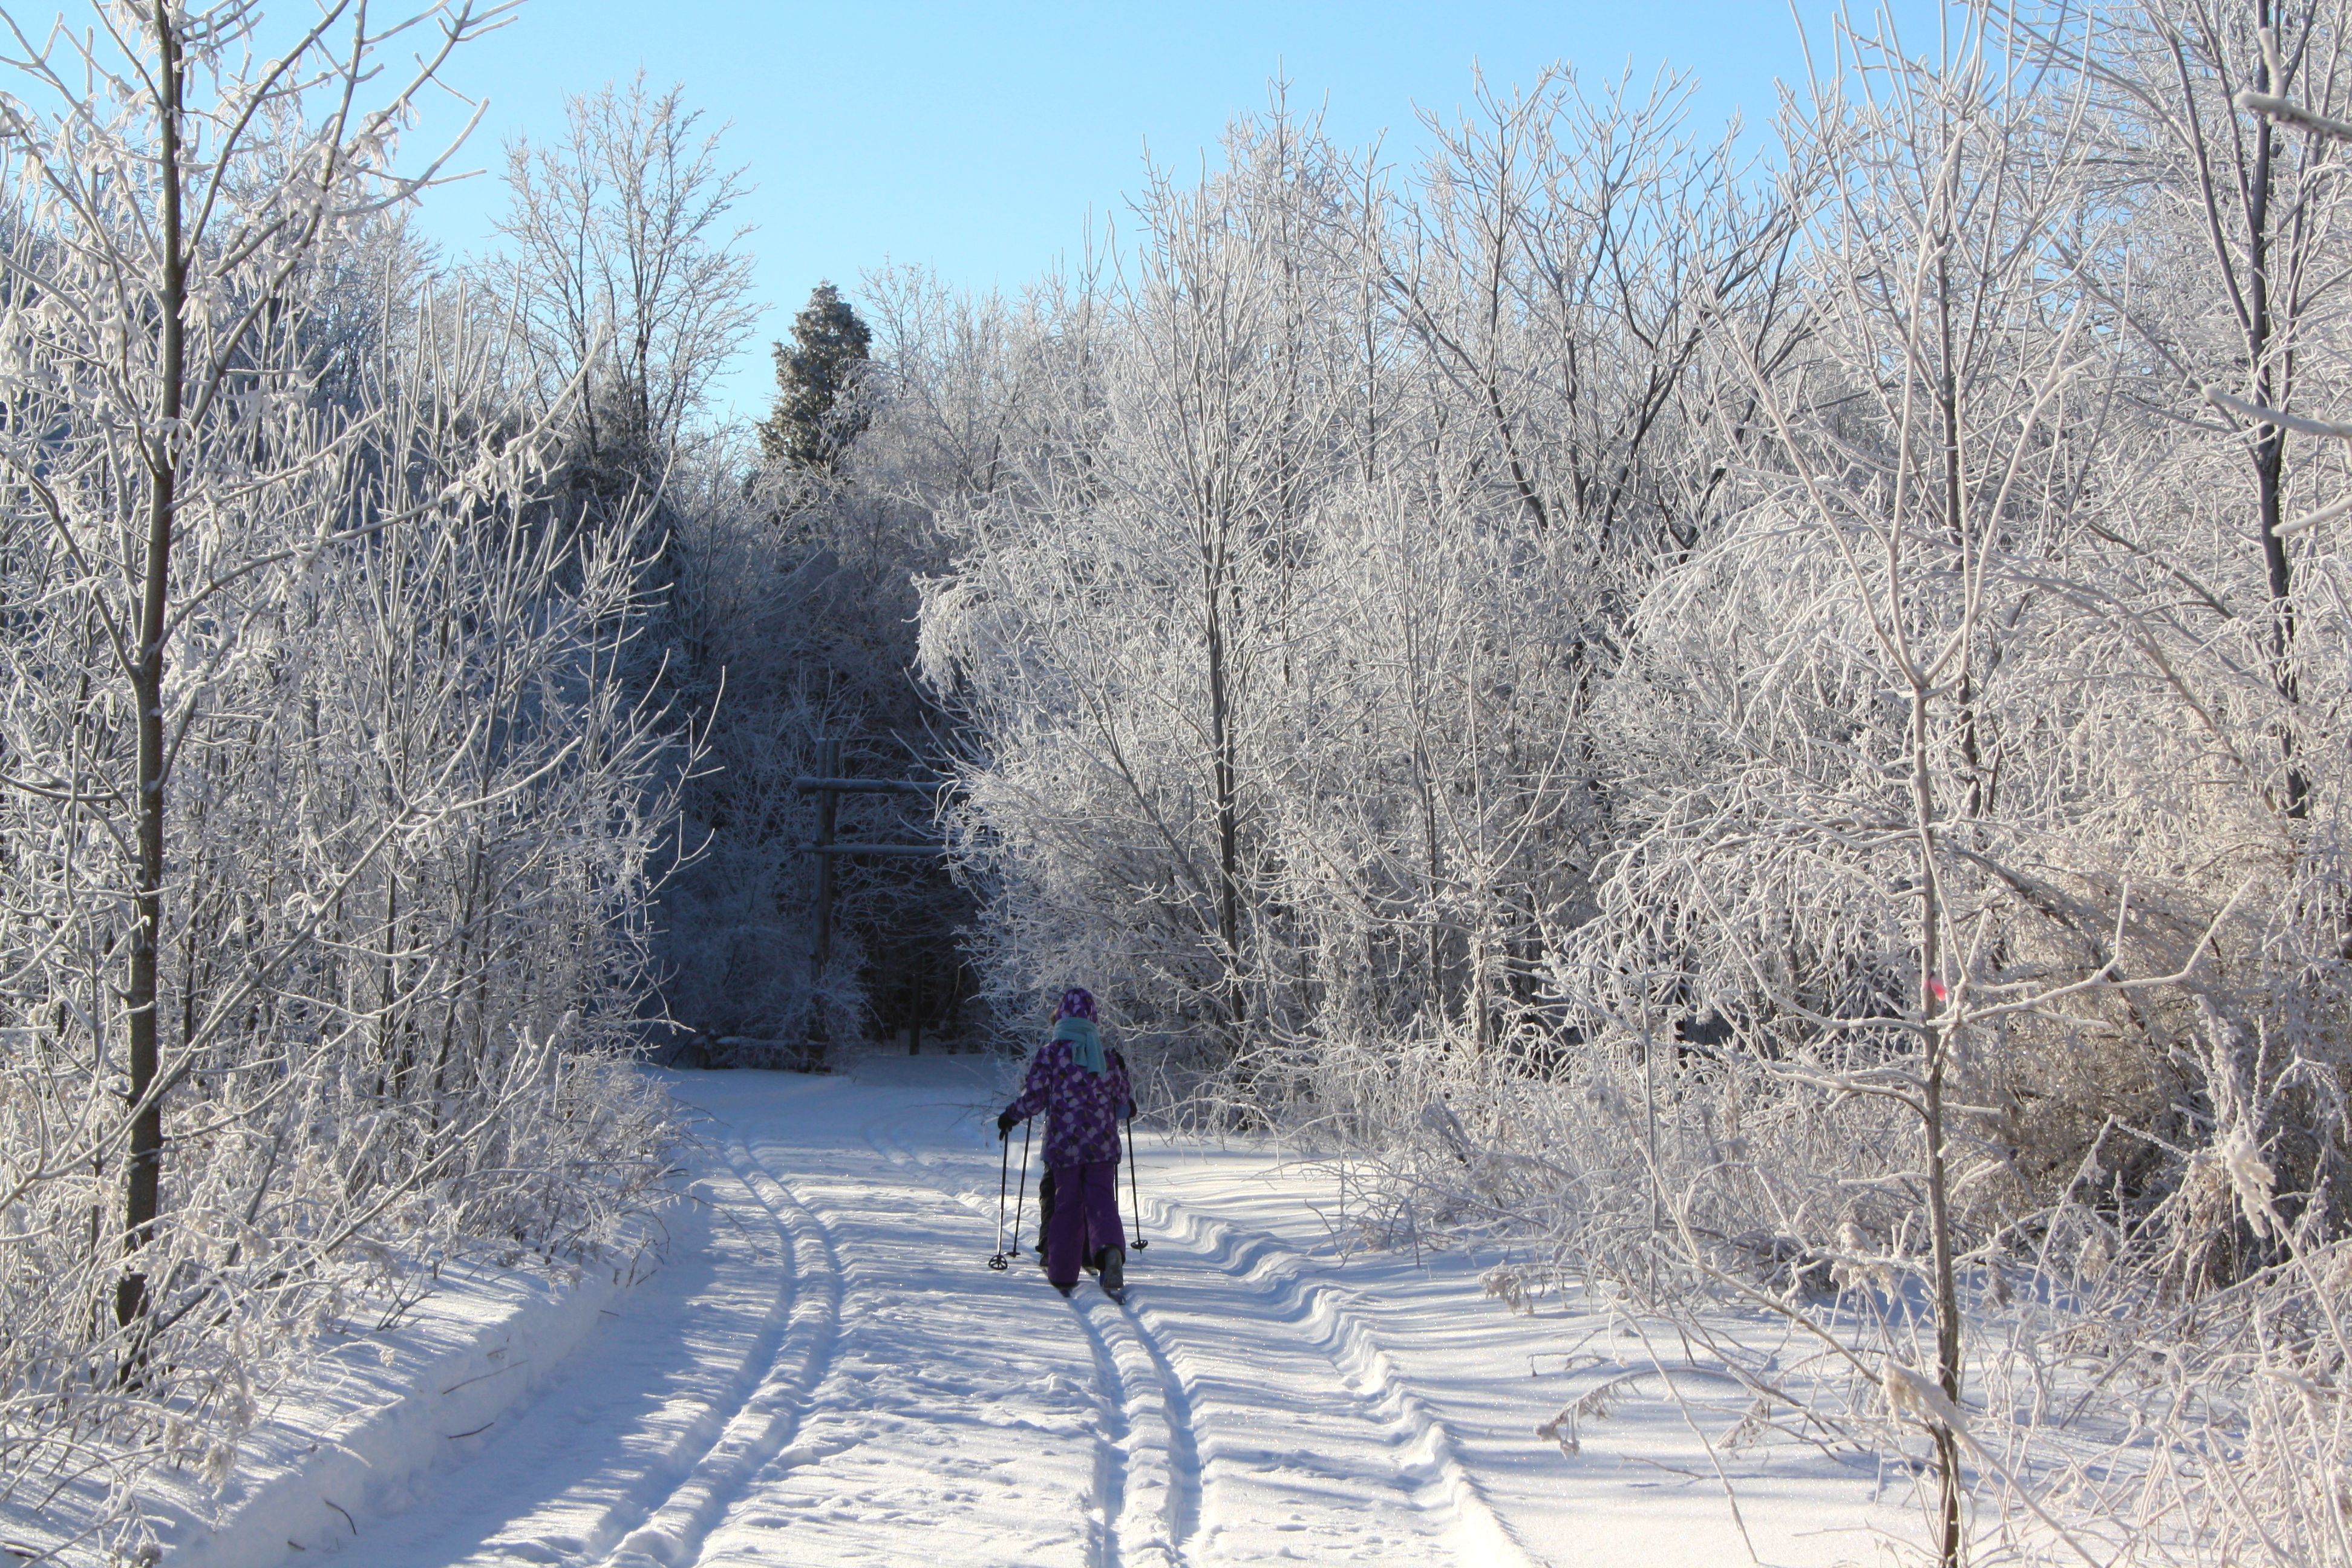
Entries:
{"label": "groomed ski trail from left snowbank's foot to the rightmost ski track", "polygon": [[1541,1561],[1432,1408],[1446,1373],[1414,1382],[1383,1342],[1425,1305],[1383,1295],[1388,1265],[1341,1274],[1261,1157],[1155,1161],[1145,1140],[1152,1246],[1129,1260],[1131,1295],[1089,1281],[1065,1302],[1028,1260],[985,1267],[985,1095],[931,1072],[680,1081],[710,1119],[670,1260],[416,1486],[428,1507],[360,1509],[336,1561]]}

